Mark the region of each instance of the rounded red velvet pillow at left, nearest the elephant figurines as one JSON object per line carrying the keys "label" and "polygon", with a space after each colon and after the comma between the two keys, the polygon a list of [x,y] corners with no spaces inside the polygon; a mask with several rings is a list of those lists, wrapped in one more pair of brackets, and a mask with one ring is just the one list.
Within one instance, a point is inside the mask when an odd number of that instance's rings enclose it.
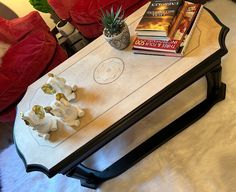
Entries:
{"label": "rounded red velvet pillow at left, nearest the elephant figurines", "polygon": [[40,30],[9,48],[0,67],[0,112],[18,101],[28,85],[42,75],[55,49],[55,39]]}

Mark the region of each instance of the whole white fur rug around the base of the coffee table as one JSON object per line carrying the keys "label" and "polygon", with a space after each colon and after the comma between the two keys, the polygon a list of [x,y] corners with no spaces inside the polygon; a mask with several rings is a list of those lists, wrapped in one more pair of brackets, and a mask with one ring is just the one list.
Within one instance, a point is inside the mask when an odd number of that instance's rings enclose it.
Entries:
{"label": "whole white fur rug around the base of the coffee table", "polygon": [[[234,192],[236,189],[236,3],[206,5],[230,28],[222,59],[226,99],[198,122],[120,176],[101,185],[105,192]],[[119,141],[119,140],[118,140]],[[119,143],[125,145],[124,143]],[[117,145],[116,145],[117,147]],[[119,148],[119,147],[118,147]],[[106,150],[106,149],[105,149]],[[111,151],[114,148],[110,149]],[[103,155],[104,156],[104,155]],[[102,158],[102,154],[97,155]],[[79,180],[39,172],[25,173],[14,145],[0,154],[2,191],[91,192]]]}

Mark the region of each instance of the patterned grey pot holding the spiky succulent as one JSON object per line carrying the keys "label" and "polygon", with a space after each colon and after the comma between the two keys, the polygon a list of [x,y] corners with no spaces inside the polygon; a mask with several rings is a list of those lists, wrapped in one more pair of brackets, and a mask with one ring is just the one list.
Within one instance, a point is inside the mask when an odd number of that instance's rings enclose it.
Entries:
{"label": "patterned grey pot holding the spiky succulent", "polygon": [[107,37],[103,30],[103,35],[107,42],[116,49],[125,49],[130,44],[130,33],[127,24],[125,23],[124,29],[121,31],[120,34],[112,37]]}

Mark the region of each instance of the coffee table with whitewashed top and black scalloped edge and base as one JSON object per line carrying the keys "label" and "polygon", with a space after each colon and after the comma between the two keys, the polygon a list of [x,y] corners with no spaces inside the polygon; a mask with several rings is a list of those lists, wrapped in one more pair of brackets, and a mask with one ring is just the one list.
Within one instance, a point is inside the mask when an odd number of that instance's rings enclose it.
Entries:
{"label": "coffee table with whitewashed top and black scalloped edge and base", "polygon": [[[132,41],[134,29],[147,6],[127,19]],[[98,38],[52,71],[79,86],[76,104],[86,115],[80,127],[53,132],[50,141],[38,137],[20,119],[21,111],[35,104],[47,106],[53,99],[40,89],[47,75],[40,78],[29,86],[18,104],[14,126],[14,141],[26,171],[41,171],[48,177],[62,173],[80,179],[83,186],[97,188],[128,170],[225,98],[221,58],[227,53],[224,42],[228,30],[205,8],[183,58],[135,55],[132,45],[119,51],[110,47],[103,37]],[[206,81],[205,97],[172,118],[172,122],[101,171],[82,163],[154,110],[170,101],[177,102],[176,96],[201,79]],[[192,95],[202,92],[197,88]],[[173,113],[177,110],[172,109]]]}

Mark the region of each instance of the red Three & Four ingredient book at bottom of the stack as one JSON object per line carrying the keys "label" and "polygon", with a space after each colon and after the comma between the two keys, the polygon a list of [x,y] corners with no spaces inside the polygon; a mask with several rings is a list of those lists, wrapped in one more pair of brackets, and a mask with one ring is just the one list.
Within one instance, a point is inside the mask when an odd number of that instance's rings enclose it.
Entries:
{"label": "red Three & Four ingredient book at bottom of the stack", "polygon": [[178,24],[173,40],[150,40],[137,37],[134,41],[134,53],[183,56],[201,13],[200,4],[188,3],[182,20]]}

